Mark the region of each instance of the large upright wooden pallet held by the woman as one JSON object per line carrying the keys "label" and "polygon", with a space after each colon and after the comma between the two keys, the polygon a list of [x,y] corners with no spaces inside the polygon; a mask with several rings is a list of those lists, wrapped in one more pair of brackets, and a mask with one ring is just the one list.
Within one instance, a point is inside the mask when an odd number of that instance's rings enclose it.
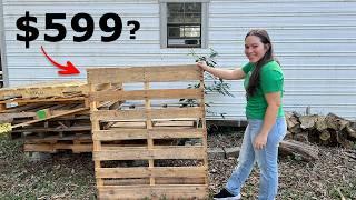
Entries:
{"label": "large upright wooden pallet held by the woman", "polygon": [[[198,81],[200,88],[171,89]],[[96,86],[122,82],[123,90]],[[126,83],[141,83],[127,90]],[[152,89],[161,82],[164,89]],[[207,132],[204,77],[196,66],[88,70],[93,161],[100,199],[207,199]],[[195,99],[191,107],[154,107],[154,100]],[[141,100],[144,107],[98,110],[102,101]],[[194,146],[185,146],[195,140]]]}

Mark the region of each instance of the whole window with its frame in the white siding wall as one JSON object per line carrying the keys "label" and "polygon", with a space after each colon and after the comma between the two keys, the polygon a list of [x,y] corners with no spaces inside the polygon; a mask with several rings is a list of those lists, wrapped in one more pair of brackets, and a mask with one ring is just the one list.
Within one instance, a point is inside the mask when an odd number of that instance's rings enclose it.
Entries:
{"label": "whole window with its frame in the white siding wall", "polygon": [[207,46],[206,10],[206,1],[165,0],[161,2],[161,47],[205,48]]}

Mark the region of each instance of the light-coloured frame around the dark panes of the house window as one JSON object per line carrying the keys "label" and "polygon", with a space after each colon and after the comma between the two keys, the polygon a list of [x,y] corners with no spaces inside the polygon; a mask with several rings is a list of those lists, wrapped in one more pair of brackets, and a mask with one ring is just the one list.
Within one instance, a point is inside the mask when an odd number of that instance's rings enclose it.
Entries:
{"label": "light-coloured frame around the dark panes of the house window", "polygon": [[[184,44],[181,47],[168,47],[168,26],[167,26],[167,3],[201,3],[201,27],[200,27],[200,47]],[[160,48],[161,49],[181,49],[181,48],[208,48],[208,3],[210,0],[159,0],[160,9]]]}

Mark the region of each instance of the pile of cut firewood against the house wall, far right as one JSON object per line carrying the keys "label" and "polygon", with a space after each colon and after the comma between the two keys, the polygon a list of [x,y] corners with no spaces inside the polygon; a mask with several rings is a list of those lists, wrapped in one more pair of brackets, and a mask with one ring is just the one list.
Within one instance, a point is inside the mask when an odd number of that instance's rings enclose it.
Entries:
{"label": "pile of cut firewood against the house wall, far right", "polygon": [[355,148],[356,123],[334,113],[301,116],[286,113],[288,138],[323,146]]}

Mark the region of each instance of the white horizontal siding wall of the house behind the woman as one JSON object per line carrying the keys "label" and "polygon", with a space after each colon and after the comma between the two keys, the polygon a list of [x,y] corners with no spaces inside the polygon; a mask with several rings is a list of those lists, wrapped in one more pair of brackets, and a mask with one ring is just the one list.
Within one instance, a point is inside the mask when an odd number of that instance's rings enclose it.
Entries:
{"label": "white horizontal siding wall of the house behind the woman", "polygon": [[[10,86],[32,81],[85,79],[87,67],[191,63],[189,49],[160,49],[158,0],[2,0],[6,30],[4,48]],[[16,40],[20,33],[16,20],[26,11],[38,17],[39,39],[24,49]],[[43,41],[44,13],[65,12],[68,29],[65,41]],[[70,19],[78,12],[95,18],[96,32],[86,42],[75,43]],[[137,39],[129,40],[125,27],[121,37],[109,43],[99,18],[107,12],[119,13],[122,21],[137,20],[141,28]],[[209,47],[219,52],[218,63],[233,68],[247,62],[244,37],[251,28],[269,32],[275,53],[283,64],[285,109],[312,113],[335,112],[356,119],[356,1],[345,0],[211,0],[209,3]],[[123,23],[125,24],[125,23]],[[80,36],[80,33],[78,33]],[[78,77],[61,77],[40,53],[40,46],[58,62],[70,60],[80,70]],[[197,50],[206,53],[208,49]],[[245,92],[241,81],[230,81],[235,98],[216,93],[208,96],[212,111],[226,112],[227,119],[244,119]],[[218,119],[210,117],[211,119]]]}

